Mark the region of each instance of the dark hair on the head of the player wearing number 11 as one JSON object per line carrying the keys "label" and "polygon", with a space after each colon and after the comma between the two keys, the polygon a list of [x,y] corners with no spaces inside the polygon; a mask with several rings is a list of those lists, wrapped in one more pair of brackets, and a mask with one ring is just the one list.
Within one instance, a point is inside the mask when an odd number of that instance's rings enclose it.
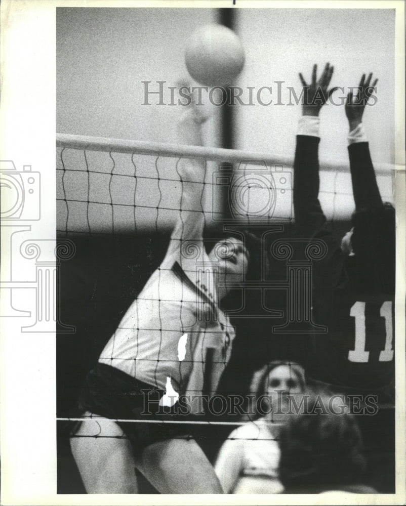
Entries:
{"label": "dark hair on the head of the player wearing number 11", "polygon": [[352,216],[351,244],[358,285],[376,293],[395,291],[395,209],[386,202]]}

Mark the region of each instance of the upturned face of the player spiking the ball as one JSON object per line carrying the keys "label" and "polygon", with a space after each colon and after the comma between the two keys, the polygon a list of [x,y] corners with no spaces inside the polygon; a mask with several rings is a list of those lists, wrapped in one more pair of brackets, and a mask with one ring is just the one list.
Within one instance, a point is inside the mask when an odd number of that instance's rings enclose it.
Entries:
{"label": "upturned face of the player spiking the ball", "polygon": [[228,237],[215,244],[209,258],[219,263],[220,273],[226,279],[242,281],[243,275],[247,273],[249,253],[243,242],[235,237]]}

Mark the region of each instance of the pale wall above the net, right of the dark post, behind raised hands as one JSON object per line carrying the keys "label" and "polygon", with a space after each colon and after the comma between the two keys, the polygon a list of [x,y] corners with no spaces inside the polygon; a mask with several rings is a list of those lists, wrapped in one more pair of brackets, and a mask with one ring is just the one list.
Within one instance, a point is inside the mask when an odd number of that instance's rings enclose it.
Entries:
{"label": "pale wall above the net, right of the dark post, behind raised hands", "polygon": [[[299,92],[298,73],[309,80],[313,63],[319,71],[328,61],[334,65],[332,86],[358,86],[362,73],[374,72],[378,101],[365,111],[364,123],[373,160],[392,163],[394,22],[391,9],[240,9],[236,30],[247,63],[239,86],[276,87],[273,81],[286,81],[282,102],[289,103],[286,87]],[[299,114],[295,106],[238,108],[238,147],[292,153]],[[320,157],[347,159],[347,132],[344,108],[326,107],[321,113]]]}

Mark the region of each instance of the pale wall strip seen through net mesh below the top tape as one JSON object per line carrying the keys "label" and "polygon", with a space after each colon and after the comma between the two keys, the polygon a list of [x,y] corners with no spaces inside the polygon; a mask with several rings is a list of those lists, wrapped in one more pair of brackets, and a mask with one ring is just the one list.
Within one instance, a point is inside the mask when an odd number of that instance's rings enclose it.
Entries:
{"label": "pale wall strip seen through net mesh below the top tape", "polygon": [[[212,158],[216,150],[213,153]],[[274,158],[250,160],[251,153],[235,153],[239,160],[233,163],[232,176],[230,164],[206,161],[202,210],[207,225],[227,214],[250,224],[292,220],[291,164],[275,163]],[[116,234],[171,229],[181,209],[177,170],[181,159],[181,151],[178,156],[163,156],[145,153],[145,149],[127,153],[58,147],[58,232]],[[323,171],[321,163],[321,206],[329,220],[348,219],[354,208],[348,168],[342,164],[334,168],[331,163],[326,167]],[[382,198],[391,202],[391,172],[377,172]]]}

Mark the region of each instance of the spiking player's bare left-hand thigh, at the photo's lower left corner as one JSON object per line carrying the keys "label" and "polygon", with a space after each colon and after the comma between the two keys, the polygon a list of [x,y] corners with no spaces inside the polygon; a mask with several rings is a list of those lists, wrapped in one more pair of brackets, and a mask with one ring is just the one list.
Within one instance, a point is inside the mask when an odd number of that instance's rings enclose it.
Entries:
{"label": "spiking player's bare left-hand thigh, at the photo's lower left corner", "polygon": [[88,494],[138,493],[131,444],[123,435],[115,421],[96,417],[84,420],[76,437],[70,438]]}

